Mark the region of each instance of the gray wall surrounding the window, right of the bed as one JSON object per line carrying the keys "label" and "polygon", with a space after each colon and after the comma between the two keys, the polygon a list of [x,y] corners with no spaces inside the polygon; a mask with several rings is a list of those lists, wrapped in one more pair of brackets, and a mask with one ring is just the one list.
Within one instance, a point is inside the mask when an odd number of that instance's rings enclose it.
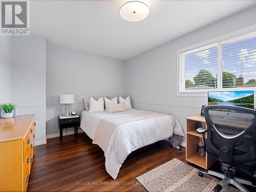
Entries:
{"label": "gray wall surrounding the window, right of the bed", "polygon": [[177,96],[177,50],[256,24],[256,7],[125,61],[126,94],[133,107],[174,114],[185,126],[185,117],[200,114],[206,96]]}

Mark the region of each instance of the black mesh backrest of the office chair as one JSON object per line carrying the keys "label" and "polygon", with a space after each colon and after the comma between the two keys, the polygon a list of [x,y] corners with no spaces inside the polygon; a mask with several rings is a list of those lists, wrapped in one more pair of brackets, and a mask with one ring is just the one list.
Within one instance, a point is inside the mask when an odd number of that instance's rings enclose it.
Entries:
{"label": "black mesh backrest of the office chair", "polygon": [[256,161],[256,111],[238,106],[211,105],[204,109],[206,151],[226,163]]}

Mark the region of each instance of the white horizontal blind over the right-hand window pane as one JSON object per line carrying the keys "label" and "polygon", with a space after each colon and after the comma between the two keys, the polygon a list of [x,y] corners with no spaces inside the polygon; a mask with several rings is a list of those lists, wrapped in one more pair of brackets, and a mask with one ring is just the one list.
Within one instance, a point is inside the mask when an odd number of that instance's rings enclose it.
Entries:
{"label": "white horizontal blind over the right-hand window pane", "polygon": [[256,87],[256,37],[222,45],[222,88]]}

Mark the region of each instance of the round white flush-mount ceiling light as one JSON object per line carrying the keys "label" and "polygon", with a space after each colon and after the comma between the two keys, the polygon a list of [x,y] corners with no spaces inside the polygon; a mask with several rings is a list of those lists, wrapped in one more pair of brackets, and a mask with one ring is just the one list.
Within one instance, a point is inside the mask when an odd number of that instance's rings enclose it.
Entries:
{"label": "round white flush-mount ceiling light", "polygon": [[120,15],[128,22],[139,22],[150,13],[150,7],[141,1],[131,1],[123,4],[120,8]]}

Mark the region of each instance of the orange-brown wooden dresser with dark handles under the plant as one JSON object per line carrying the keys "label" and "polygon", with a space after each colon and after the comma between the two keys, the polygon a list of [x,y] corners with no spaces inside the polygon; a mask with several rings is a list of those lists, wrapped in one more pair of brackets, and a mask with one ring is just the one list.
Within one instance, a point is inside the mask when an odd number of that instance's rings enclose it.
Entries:
{"label": "orange-brown wooden dresser with dark handles under the plant", "polygon": [[27,191],[35,125],[35,115],[0,118],[0,191]]}

